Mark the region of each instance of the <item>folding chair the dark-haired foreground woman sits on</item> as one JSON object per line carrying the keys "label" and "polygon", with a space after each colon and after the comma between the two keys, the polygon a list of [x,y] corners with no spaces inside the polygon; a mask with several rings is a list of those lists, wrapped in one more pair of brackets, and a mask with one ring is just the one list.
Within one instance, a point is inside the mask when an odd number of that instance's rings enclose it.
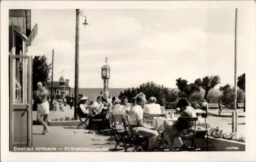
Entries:
{"label": "folding chair the dark-haired foreground woman sits on", "polygon": [[180,117],[178,120],[184,121],[184,122],[195,122],[194,130],[191,130],[193,133],[191,134],[182,134],[182,131],[179,132],[179,136],[182,140],[182,142],[185,144],[185,141],[189,141],[191,143],[191,146],[186,146],[184,148],[174,148],[175,151],[178,149],[182,150],[192,150],[195,151],[196,149],[196,142],[195,142],[195,135],[196,135],[196,125],[198,121],[198,117]]}

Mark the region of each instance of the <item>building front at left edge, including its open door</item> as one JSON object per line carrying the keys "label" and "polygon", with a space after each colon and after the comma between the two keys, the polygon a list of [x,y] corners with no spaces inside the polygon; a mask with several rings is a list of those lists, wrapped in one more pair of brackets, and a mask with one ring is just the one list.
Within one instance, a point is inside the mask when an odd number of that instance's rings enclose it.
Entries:
{"label": "building front at left edge, including its open door", "polygon": [[31,10],[9,10],[9,150],[32,147],[32,56],[28,47],[37,35],[31,30]]}

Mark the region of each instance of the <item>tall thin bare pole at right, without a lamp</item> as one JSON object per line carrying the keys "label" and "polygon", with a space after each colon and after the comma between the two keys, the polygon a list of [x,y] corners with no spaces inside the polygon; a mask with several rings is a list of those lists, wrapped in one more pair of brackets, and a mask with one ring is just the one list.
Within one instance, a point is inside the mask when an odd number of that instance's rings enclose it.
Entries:
{"label": "tall thin bare pole at right, without a lamp", "polygon": [[232,132],[237,132],[237,18],[238,9],[236,8],[236,19],[234,27],[234,109],[232,114]]}

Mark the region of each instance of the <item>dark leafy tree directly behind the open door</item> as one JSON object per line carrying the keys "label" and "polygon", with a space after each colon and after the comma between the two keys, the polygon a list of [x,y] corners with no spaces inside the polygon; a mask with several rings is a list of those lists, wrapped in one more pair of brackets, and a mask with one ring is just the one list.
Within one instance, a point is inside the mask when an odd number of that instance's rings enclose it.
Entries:
{"label": "dark leafy tree directly behind the open door", "polygon": [[37,89],[37,82],[42,82],[44,85],[50,81],[50,72],[52,70],[52,64],[47,62],[45,55],[35,56],[33,58],[33,91]]}

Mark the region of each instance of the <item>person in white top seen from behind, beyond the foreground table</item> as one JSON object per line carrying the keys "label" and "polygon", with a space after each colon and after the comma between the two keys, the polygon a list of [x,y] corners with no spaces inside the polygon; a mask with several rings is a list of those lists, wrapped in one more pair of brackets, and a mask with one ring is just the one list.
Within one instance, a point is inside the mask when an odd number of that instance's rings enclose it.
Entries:
{"label": "person in white top seen from behind, beyond the foreground table", "polygon": [[161,114],[161,106],[156,104],[156,102],[157,99],[155,97],[148,99],[148,104],[146,104],[143,108],[144,113]]}

